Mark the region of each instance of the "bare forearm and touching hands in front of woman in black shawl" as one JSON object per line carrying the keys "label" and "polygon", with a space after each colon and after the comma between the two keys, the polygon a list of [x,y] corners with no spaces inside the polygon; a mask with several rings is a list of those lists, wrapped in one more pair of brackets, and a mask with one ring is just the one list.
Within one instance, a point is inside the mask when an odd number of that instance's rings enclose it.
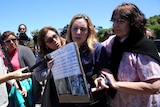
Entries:
{"label": "bare forearm and touching hands in front of woman in black shawl", "polygon": [[[149,81],[144,82],[125,82],[125,81],[116,81],[110,71],[102,71],[102,74],[104,74],[109,80],[110,80],[110,86],[113,87],[116,90],[120,90],[123,92],[131,93],[131,94],[144,94],[144,95],[150,95],[150,94],[157,94],[160,93],[160,80],[159,79],[152,79]],[[109,86],[105,84],[104,81],[105,78],[97,78],[95,80],[95,84],[97,86],[97,90],[103,88],[108,89]],[[99,83],[101,86],[99,86]]]}

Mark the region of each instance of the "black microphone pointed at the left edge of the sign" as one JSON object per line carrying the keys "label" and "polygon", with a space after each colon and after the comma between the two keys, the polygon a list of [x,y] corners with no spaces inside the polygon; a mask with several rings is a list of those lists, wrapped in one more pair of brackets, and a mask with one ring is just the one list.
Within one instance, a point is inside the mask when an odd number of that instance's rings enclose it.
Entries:
{"label": "black microphone pointed at the left edge of the sign", "polygon": [[48,61],[50,61],[50,60],[52,60],[51,55],[50,55],[50,54],[47,54],[47,55],[45,55],[44,58],[43,58],[41,61],[39,61],[37,64],[33,65],[31,68],[28,68],[28,71],[33,72],[33,69],[37,68],[37,67],[38,67],[39,65],[41,65],[43,62],[48,62]]}

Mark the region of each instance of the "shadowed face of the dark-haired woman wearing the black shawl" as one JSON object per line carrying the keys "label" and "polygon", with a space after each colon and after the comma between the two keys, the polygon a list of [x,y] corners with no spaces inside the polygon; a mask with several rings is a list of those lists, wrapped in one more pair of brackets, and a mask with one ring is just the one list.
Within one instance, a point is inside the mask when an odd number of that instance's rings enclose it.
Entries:
{"label": "shadowed face of the dark-haired woman wearing the black shawl", "polygon": [[129,34],[130,26],[127,19],[121,18],[120,15],[115,15],[112,22],[114,33],[118,37],[123,38]]}

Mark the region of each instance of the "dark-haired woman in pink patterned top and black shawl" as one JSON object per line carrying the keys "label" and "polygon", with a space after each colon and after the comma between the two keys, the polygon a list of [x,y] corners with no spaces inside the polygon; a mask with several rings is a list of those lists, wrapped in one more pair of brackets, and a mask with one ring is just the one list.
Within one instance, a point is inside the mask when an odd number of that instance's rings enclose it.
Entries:
{"label": "dark-haired woman in pink patterned top and black shawl", "polygon": [[160,107],[160,57],[144,35],[144,14],[135,4],[122,3],[111,21],[115,35],[102,43],[109,65],[101,72],[106,78],[95,80],[96,87],[107,89],[112,107]]}

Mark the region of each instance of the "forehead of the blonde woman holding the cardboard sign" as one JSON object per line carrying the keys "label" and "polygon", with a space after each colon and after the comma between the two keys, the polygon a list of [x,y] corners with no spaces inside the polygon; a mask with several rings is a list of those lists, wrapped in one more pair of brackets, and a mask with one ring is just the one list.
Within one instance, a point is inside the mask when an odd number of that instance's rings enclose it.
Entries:
{"label": "forehead of the blonde woman holding the cardboard sign", "polygon": [[75,19],[72,26],[86,27],[87,26],[87,21],[83,18]]}

